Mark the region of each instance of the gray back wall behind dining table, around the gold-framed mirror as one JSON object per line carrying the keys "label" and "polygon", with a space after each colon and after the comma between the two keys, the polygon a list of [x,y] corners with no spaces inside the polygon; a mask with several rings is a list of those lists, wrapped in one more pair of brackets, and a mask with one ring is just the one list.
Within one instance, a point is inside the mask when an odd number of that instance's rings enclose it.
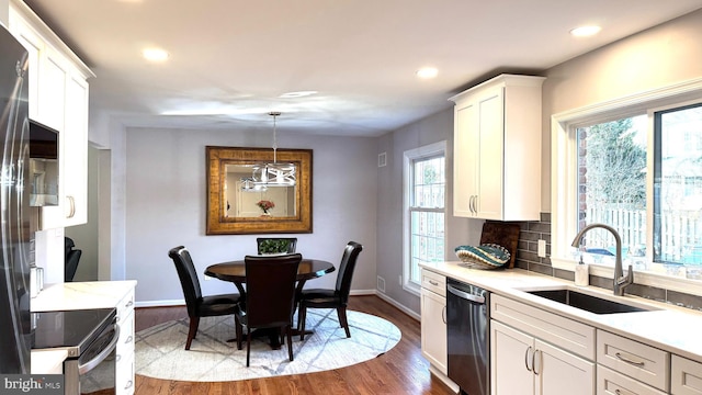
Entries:
{"label": "gray back wall behind dining table, around the gold-framed mirror", "polygon": [[[267,147],[269,131],[129,129],[126,136],[126,278],[140,305],[182,301],[168,250],[184,245],[199,273],[208,264],[256,253],[257,235],[205,236],[205,146]],[[281,148],[312,148],[313,234],[298,238],[306,257],[338,264],[349,240],[363,245],[353,290],[375,289],[375,138],[284,136]],[[233,292],[217,280],[203,293]],[[333,286],[336,273],[307,283]]]}

